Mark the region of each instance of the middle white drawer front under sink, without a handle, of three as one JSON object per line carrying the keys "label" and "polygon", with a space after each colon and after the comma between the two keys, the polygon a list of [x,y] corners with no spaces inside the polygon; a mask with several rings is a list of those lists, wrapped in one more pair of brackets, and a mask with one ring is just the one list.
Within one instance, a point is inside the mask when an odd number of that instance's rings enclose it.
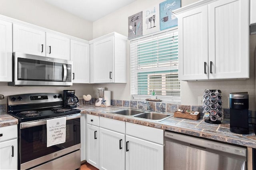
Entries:
{"label": "middle white drawer front under sink, without a handle, of three", "polygon": [[125,133],[125,122],[120,120],[109,119],[106,117],[100,117],[100,127],[116,131],[119,133]]}

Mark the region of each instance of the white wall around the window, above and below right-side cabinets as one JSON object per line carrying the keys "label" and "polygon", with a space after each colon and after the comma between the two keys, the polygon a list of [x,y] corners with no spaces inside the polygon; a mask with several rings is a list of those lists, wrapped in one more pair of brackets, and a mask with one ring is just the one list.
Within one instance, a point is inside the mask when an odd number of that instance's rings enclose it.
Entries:
{"label": "white wall around the window, above and below right-side cabinets", "polygon": [[[137,0],[118,11],[101,18],[93,23],[93,38],[116,31],[128,36],[128,17],[164,0]],[[182,6],[197,0],[182,0]],[[129,44],[129,42],[128,42]],[[220,80],[201,82],[181,82],[181,99],[184,105],[198,105],[198,96],[202,96],[205,89],[220,89],[223,96],[223,107],[228,108],[228,96],[231,92],[248,92],[249,109],[255,110],[255,64],[254,49],[256,35],[250,36],[250,79],[248,80]],[[112,98],[130,100],[130,48],[127,45],[127,84],[101,84],[112,91]],[[98,85],[94,85],[94,91]]]}

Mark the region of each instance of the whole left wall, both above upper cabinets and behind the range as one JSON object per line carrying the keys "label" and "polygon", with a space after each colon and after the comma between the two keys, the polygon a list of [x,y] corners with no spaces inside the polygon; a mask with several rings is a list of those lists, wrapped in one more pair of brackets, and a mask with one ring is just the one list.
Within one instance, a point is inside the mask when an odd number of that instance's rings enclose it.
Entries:
{"label": "whole left wall, both above upper cabinets and behind the range", "polygon": [[[74,37],[92,39],[92,22],[55,8],[43,0],[0,0],[0,14]],[[63,90],[72,89],[76,90],[76,96],[82,99],[82,95],[92,92],[92,87],[90,84],[73,84],[70,87],[13,87],[0,82],[0,94],[9,96],[38,92],[63,93]],[[6,98],[0,100],[0,104],[6,104]]]}

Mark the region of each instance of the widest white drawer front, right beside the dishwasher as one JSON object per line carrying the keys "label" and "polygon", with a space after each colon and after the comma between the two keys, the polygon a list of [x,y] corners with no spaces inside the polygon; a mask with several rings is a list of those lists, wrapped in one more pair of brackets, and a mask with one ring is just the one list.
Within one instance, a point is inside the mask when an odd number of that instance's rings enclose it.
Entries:
{"label": "widest white drawer front, right beside the dishwasher", "polygon": [[126,135],[164,145],[164,130],[126,122]]}

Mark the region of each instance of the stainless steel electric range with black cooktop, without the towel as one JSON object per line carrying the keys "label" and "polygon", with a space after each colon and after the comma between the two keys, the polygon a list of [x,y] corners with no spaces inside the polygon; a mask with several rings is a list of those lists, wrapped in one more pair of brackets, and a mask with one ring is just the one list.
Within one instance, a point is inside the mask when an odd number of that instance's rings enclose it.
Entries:
{"label": "stainless steel electric range with black cooktop, without the towel", "polygon": [[[18,119],[18,169],[80,168],[80,110],[63,108],[61,94],[8,96],[8,113]],[[66,142],[47,147],[47,120],[66,117]]]}

